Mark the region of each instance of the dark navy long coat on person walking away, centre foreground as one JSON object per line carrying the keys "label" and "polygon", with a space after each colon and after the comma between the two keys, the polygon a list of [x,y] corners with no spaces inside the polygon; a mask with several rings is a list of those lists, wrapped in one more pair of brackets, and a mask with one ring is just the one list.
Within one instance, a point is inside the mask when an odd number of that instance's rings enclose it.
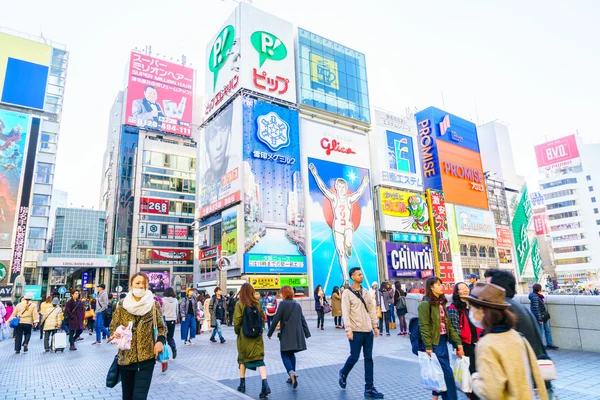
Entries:
{"label": "dark navy long coat on person walking away, centre foreground", "polygon": [[281,322],[279,344],[281,351],[306,350],[306,338],[310,337],[310,330],[302,314],[302,307],[294,300],[283,300],[271,322],[268,337],[273,336],[277,324]]}

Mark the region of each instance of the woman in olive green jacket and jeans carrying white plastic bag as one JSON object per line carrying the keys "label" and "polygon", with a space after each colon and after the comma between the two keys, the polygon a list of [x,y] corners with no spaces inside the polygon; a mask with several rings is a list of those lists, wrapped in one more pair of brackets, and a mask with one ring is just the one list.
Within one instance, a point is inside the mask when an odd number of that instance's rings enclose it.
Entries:
{"label": "woman in olive green jacket and jeans carrying white plastic bag", "polygon": [[433,396],[442,396],[443,400],[456,400],[456,382],[450,366],[450,354],[448,343],[457,349],[456,356],[462,358],[464,350],[460,336],[454,329],[452,321],[446,310],[446,296],[442,280],[437,276],[427,278],[425,281],[425,297],[419,304],[419,329],[421,339],[425,344],[428,355],[435,353],[444,371],[444,380],[447,390],[445,392],[432,393]]}

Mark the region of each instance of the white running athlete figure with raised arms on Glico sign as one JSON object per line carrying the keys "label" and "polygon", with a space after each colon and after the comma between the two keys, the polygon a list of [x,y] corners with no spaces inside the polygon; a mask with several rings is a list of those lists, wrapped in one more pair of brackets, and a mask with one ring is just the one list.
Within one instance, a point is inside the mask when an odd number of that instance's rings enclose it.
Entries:
{"label": "white running athlete figure with raised arms on Glico sign", "polygon": [[317,186],[323,195],[331,202],[333,211],[333,241],[340,260],[340,267],[344,276],[344,284],[348,283],[348,258],[352,257],[352,240],[354,236],[354,223],[352,222],[352,205],[363,195],[369,178],[364,177],[360,186],[354,193],[348,194],[348,183],[343,178],[335,180],[335,192],[329,190],[319,177],[317,167],[313,163],[308,165]]}

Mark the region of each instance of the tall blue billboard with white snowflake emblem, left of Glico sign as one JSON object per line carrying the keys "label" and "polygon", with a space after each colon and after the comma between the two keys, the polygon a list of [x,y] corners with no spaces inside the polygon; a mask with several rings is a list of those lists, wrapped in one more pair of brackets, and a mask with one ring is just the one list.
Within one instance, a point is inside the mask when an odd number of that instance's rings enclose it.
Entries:
{"label": "tall blue billboard with white snowflake emblem, left of Glico sign", "polygon": [[[245,253],[298,262],[306,255],[298,111],[244,97],[243,119]],[[266,272],[255,260],[246,257],[245,272]]]}

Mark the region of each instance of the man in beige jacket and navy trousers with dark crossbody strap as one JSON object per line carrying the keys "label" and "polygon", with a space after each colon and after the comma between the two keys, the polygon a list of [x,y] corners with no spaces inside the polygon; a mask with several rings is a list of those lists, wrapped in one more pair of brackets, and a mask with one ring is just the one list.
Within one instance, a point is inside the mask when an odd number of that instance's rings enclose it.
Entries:
{"label": "man in beige jacket and navy trousers with dark crossbody strap", "polygon": [[350,356],[339,373],[339,385],[346,389],[348,374],[358,362],[362,349],[365,359],[365,393],[373,399],[383,399],[383,394],[375,389],[373,377],[373,338],[379,335],[375,300],[361,285],[363,274],[360,268],[350,270],[352,285],[342,295],[342,316],[346,327],[346,337],[350,342]]}

